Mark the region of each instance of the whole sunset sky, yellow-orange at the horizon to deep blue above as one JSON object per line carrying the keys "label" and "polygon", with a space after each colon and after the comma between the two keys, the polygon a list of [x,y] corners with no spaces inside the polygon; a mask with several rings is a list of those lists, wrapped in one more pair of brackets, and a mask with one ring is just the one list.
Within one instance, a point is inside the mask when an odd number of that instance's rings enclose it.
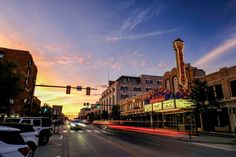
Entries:
{"label": "whole sunset sky, yellow-orange at the horizon to deep blue above", "polygon": [[0,47],[30,51],[37,84],[82,85],[85,91],[36,88],[42,104],[77,113],[120,75],[162,76],[185,62],[207,73],[236,65],[235,0],[1,0]]}

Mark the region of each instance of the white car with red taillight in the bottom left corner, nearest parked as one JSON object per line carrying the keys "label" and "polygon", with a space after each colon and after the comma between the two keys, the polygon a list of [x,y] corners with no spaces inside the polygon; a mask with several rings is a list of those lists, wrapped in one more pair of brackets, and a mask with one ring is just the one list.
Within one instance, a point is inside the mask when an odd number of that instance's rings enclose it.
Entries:
{"label": "white car with red taillight in the bottom left corner, nearest parked", "polygon": [[0,126],[1,157],[31,157],[30,152],[19,129]]}

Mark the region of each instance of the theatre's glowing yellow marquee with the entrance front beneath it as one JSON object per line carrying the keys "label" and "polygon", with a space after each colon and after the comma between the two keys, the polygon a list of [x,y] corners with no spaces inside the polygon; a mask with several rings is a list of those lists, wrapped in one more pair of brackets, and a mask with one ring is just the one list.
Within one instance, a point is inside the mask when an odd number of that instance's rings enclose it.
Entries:
{"label": "theatre's glowing yellow marquee with the entrance front beneath it", "polygon": [[177,131],[186,131],[190,127],[192,131],[195,130],[192,103],[186,99],[170,99],[147,104],[144,107],[145,112],[153,116],[154,127],[170,128]]}

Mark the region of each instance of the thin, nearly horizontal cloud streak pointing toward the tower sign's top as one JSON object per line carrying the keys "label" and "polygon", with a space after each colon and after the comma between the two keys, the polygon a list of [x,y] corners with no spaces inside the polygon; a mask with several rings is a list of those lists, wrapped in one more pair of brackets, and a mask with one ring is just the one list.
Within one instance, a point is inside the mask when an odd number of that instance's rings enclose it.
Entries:
{"label": "thin, nearly horizontal cloud streak pointing toward the tower sign's top", "polygon": [[144,34],[137,34],[137,35],[127,35],[127,36],[111,36],[106,37],[107,41],[117,41],[117,40],[134,40],[134,39],[142,39],[142,38],[148,38],[152,36],[159,36],[163,34],[169,34],[179,31],[179,29],[169,29],[169,30],[163,30],[163,31],[155,31],[155,32],[149,32]]}

